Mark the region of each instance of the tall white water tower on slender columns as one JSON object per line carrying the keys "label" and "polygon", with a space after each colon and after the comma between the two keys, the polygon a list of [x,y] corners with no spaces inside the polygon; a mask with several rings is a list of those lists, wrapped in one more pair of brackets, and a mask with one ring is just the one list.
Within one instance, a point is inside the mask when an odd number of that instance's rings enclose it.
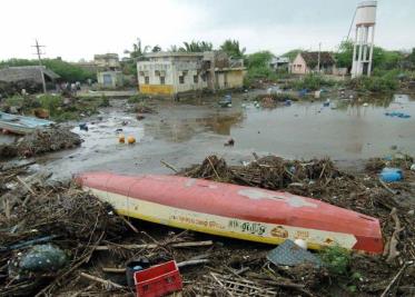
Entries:
{"label": "tall white water tower on slender columns", "polygon": [[370,76],[375,39],[376,1],[365,1],[356,10],[356,37],[353,49],[352,78]]}

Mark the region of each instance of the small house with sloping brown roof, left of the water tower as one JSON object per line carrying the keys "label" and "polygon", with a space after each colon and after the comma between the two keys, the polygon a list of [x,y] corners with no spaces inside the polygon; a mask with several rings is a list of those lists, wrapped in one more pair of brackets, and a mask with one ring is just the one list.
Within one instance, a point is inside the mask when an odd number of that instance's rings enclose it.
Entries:
{"label": "small house with sloping brown roof, left of the water tower", "polygon": [[[319,69],[318,69],[319,67]],[[297,55],[290,66],[293,75],[306,75],[320,72],[333,75],[336,72],[336,63],[328,51],[303,51]]]}

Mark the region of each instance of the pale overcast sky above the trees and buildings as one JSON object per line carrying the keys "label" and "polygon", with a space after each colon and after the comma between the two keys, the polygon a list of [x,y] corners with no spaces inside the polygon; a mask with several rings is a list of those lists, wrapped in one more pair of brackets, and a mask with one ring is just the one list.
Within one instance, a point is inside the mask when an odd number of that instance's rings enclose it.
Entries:
{"label": "pale overcast sky above the trees and buildings", "polygon": [[[347,36],[357,0],[1,0],[0,59],[32,58],[38,38],[46,57],[91,60],[139,37],[168,48],[189,40],[219,46],[237,39],[247,52],[333,50]],[[381,0],[375,42],[415,47],[415,0]]]}

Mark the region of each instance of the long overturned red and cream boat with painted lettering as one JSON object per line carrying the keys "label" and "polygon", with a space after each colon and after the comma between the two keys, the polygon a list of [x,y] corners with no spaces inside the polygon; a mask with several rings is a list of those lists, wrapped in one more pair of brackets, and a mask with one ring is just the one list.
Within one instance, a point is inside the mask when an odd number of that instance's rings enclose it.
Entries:
{"label": "long overturned red and cream boat with painted lettering", "polygon": [[267,244],[300,238],[312,249],[383,251],[378,219],[288,192],[177,176],[87,172],[76,180],[118,214],[147,221]]}

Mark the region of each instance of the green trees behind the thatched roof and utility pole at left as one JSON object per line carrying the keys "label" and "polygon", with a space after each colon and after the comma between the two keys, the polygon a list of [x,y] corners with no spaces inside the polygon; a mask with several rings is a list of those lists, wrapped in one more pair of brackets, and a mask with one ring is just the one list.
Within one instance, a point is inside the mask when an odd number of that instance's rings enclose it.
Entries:
{"label": "green trees behind the thatched roof and utility pole at left", "polygon": [[[95,79],[96,75],[88,71],[77,65],[72,65],[60,59],[43,59],[43,66],[56,72],[61,77],[62,80],[75,82],[75,81],[86,81],[88,79]],[[13,66],[37,66],[38,60],[26,60],[26,59],[10,59],[0,62],[0,68],[13,67]]]}

